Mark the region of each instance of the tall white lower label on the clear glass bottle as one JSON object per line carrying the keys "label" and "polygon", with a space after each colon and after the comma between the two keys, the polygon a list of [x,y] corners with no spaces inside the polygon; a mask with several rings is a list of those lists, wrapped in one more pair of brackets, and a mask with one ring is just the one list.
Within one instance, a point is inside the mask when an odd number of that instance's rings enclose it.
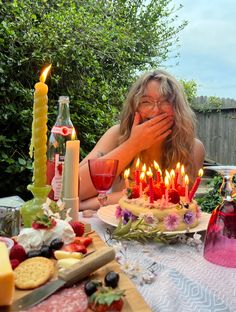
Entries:
{"label": "tall white lower label on the clear glass bottle", "polygon": [[62,155],[55,155],[55,175],[51,182],[51,186],[54,192],[54,200],[58,200],[61,197],[64,159],[65,157]]}

